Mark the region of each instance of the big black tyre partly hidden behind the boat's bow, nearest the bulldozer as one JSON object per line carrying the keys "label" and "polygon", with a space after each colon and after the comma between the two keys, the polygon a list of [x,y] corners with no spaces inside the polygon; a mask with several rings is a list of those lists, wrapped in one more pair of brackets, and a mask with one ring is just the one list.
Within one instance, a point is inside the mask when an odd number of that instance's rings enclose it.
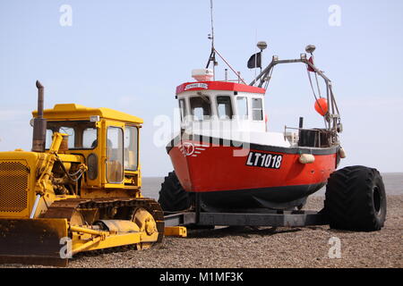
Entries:
{"label": "big black tyre partly hidden behind the boat's bow, nearest the bulldozer", "polygon": [[180,212],[191,207],[190,194],[184,190],[175,172],[169,172],[159,190],[159,205],[165,212]]}

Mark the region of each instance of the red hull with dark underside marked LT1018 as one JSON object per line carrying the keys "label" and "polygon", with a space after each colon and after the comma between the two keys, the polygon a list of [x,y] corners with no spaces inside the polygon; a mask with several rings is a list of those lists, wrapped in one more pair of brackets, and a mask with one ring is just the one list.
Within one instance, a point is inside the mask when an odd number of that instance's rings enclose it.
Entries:
{"label": "red hull with dark underside marked LT1018", "polygon": [[[176,139],[167,151],[184,189],[201,193],[205,205],[219,209],[297,206],[326,184],[339,163],[339,147],[210,142],[215,141]],[[314,162],[301,164],[301,154],[312,154]]]}

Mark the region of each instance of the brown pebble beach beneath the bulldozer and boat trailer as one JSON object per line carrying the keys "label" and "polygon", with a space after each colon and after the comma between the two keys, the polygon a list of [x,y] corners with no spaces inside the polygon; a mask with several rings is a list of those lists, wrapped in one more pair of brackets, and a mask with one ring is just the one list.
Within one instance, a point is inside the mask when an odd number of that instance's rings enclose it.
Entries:
{"label": "brown pebble beach beneath the bulldozer and boat trailer", "polygon": [[[308,198],[306,209],[320,210],[323,197]],[[302,228],[221,227],[189,230],[187,238],[167,237],[146,250],[108,249],[81,253],[71,268],[276,268],[276,267],[403,267],[402,195],[388,196],[382,231],[332,230],[329,226]],[[339,239],[339,257],[331,244]],[[1,267],[43,267],[0,265]]]}

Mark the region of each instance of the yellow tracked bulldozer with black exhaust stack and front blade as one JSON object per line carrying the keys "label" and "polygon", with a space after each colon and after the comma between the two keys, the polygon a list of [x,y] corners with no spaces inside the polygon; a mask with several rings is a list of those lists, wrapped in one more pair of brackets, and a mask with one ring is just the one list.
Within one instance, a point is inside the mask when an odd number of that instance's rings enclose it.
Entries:
{"label": "yellow tracked bulldozer with black exhaust stack and front blade", "polygon": [[36,85],[31,151],[0,152],[0,263],[65,266],[81,251],[161,242],[163,211],[141,195],[141,118],[75,104],[44,110]]}

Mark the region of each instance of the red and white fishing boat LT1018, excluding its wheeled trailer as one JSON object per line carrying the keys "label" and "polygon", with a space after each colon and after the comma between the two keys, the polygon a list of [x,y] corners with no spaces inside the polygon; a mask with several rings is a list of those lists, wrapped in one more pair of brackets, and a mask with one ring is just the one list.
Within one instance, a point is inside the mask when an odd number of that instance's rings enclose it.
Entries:
{"label": "red and white fishing boat LT1018, excluding its wheeled trailer", "polygon": [[[267,45],[259,42],[258,46],[261,52],[248,64],[253,68],[261,66],[258,62]],[[194,80],[176,87],[181,131],[167,145],[175,169],[170,180],[177,178],[186,193],[199,194],[201,207],[207,210],[304,206],[306,198],[326,184],[345,156],[331,81],[314,65],[314,50],[313,45],[306,47],[309,58],[307,54],[291,60],[273,56],[270,64],[246,84],[238,72],[236,80],[227,80],[227,75],[225,80],[214,79],[210,63],[215,66],[216,55],[227,61],[212,46],[206,68],[193,70]],[[267,130],[265,94],[273,68],[286,63],[302,63],[312,88],[311,74],[318,89],[318,79],[324,80],[326,97],[313,88],[314,108],[323,117],[323,127],[304,129],[300,118],[295,128]],[[192,196],[185,197],[179,204],[182,207],[192,201]]]}

